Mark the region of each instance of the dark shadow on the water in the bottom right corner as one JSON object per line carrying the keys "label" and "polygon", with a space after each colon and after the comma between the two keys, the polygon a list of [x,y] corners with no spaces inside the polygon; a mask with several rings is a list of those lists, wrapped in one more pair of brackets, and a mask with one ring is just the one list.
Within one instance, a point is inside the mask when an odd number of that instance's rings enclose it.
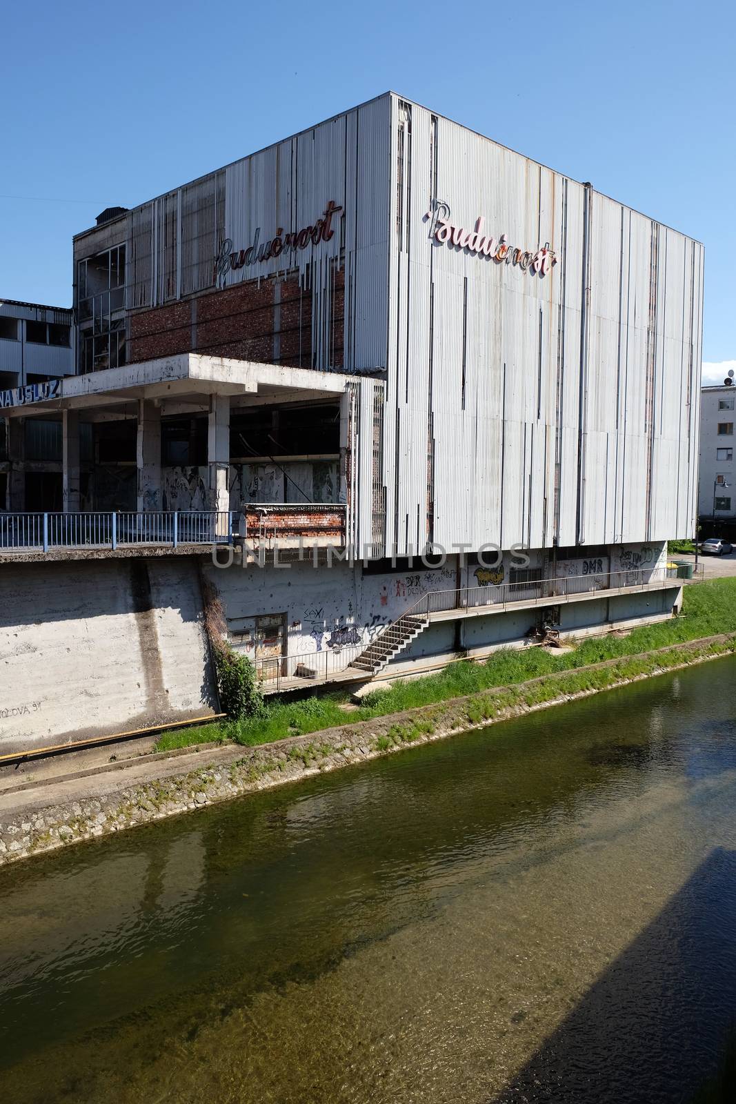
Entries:
{"label": "dark shadow on the water in the bottom right corner", "polygon": [[713,850],[492,1104],[687,1104],[736,1015],[735,885]]}

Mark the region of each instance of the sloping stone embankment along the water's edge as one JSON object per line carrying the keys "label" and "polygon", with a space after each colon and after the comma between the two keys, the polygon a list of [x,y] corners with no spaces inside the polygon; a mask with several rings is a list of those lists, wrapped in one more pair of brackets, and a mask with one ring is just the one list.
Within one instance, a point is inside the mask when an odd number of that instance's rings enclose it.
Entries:
{"label": "sloping stone embankment along the water's edge", "polygon": [[[0,866],[228,800],[736,650],[736,634],[567,669],[518,686],[256,747],[200,745],[0,795]],[[205,765],[202,765],[202,761]]]}

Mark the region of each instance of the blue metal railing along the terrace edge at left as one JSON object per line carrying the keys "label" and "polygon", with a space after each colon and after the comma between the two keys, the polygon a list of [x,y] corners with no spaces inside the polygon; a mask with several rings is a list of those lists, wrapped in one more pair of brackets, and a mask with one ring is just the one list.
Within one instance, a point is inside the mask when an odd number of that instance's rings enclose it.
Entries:
{"label": "blue metal railing along the terrace edge at left", "polygon": [[135,544],[232,544],[233,510],[2,513],[0,550],[113,549]]}

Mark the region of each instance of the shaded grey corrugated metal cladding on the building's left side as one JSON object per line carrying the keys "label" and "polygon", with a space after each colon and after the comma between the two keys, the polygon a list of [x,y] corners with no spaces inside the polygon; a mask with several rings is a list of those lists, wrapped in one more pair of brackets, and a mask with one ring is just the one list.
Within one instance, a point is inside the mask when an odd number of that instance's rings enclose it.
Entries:
{"label": "shaded grey corrugated metal cladding on the building's left side", "polygon": [[[390,112],[391,97],[380,97],[136,208],[127,216],[128,306],[160,306],[214,288],[223,243],[232,243],[238,259],[255,245],[255,262],[231,267],[223,286],[297,276],[311,295],[311,365],[384,370]],[[285,244],[288,235],[316,227],[330,202],[340,211],[329,240]],[[275,241],[284,247],[264,255],[260,247]],[[335,364],[333,305],[341,270],[344,362]]]}

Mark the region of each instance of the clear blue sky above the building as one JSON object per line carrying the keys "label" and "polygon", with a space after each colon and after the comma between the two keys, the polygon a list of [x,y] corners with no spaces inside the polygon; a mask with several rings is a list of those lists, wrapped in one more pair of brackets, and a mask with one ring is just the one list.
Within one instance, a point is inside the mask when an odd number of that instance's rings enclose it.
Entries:
{"label": "clear blue sky above the building", "polygon": [[[3,19],[0,294],[68,305],[72,235],[387,88],[705,243],[736,368],[733,4],[41,2]],[[12,198],[10,198],[12,197]]]}

